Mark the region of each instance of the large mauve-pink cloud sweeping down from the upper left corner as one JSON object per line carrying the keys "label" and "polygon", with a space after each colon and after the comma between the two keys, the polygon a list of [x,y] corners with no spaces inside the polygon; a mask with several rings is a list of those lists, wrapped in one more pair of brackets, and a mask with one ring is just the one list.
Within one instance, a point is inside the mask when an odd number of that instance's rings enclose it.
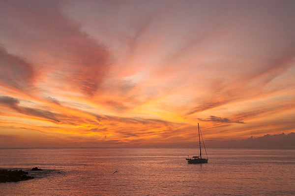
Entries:
{"label": "large mauve-pink cloud sweeping down from the upper left corner", "polygon": [[[63,2],[58,1],[36,0],[29,5],[23,1],[2,1],[0,18],[4,30],[1,36],[9,44],[26,47],[27,56],[38,61],[40,74],[50,76],[51,83],[70,85],[75,87],[71,90],[77,89],[92,97],[109,70],[110,54],[106,47],[83,32],[80,24],[65,16],[60,11],[62,6]],[[14,79],[24,74],[20,78],[28,82],[32,66],[21,63],[22,67],[18,65],[14,69],[24,73],[17,72],[19,75]],[[5,64],[4,68],[10,65]],[[14,85],[18,87],[21,82]]]}

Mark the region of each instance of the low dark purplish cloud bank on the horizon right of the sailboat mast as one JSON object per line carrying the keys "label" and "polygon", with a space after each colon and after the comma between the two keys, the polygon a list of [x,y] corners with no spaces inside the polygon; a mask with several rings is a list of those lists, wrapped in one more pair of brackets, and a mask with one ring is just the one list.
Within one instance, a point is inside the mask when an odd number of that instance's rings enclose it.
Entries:
{"label": "low dark purplish cloud bank on the horizon right of the sailboat mast", "polygon": [[295,133],[266,134],[262,137],[249,137],[241,140],[209,140],[205,141],[208,148],[250,148],[250,149],[295,149]]}

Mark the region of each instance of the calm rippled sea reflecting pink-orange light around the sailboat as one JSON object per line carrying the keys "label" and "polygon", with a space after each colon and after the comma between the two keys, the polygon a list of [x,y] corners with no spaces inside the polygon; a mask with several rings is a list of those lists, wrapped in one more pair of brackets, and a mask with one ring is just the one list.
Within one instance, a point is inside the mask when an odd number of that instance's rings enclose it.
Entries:
{"label": "calm rippled sea reflecting pink-orange light around the sailboat", "polygon": [[208,163],[188,164],[194,152],[0,149],[2,168],[44,169],[29,171],[33,180],[0,183],[0,195],[295,195],[295,150],[207,149]]}

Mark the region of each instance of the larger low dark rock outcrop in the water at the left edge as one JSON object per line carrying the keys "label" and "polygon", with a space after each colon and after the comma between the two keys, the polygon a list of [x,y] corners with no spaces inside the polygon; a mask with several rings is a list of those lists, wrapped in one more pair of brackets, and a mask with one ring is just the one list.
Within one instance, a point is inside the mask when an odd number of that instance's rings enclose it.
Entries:
{"label": "larger low dark rock outcrop in the water at the left edge", "polygon": [[22,180],[33,179],[33,176],[27,176],[28,172],[23,170],[7,170],[0,169],[0,183],[1,182],[18,182]]}

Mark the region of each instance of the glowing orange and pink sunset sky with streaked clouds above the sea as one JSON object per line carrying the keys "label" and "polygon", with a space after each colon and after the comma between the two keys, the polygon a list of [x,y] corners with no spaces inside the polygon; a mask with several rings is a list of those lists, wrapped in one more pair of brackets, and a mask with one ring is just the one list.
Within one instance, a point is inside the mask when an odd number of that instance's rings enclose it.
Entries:
{"label": "glowing orange and pink sunset sky with streaked clouds above the sea", "polygon": [[0,147],[295,132],[294,0],[0,0]]}

